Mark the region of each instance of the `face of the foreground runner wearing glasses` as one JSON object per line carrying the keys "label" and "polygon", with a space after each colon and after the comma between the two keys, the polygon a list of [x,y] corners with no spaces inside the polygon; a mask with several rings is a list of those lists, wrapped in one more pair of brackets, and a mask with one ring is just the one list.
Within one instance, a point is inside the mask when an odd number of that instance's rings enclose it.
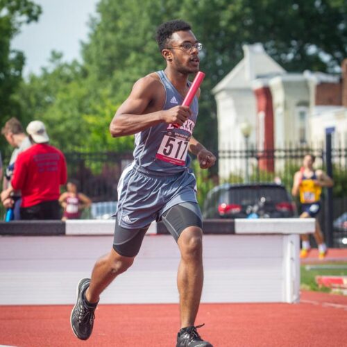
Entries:
{"label": "face of the foreground runner wearing glasses", "polygon": [[[185,49],[184,43],[192,44],[192,49]],[[172,47],[171,58],[176,66],[176,69],[183,74],[195,74],[200,65],[198,58],[198,49],[194,46],[198,43],[192,31],[176,31],[171,36],[169,46]]]}

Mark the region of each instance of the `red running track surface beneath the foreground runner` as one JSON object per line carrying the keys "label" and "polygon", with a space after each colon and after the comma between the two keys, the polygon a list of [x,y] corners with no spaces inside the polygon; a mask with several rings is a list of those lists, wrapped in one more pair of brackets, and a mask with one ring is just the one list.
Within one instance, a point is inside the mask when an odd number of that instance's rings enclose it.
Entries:
{"label": "red running track surface beneath the foreground runner", "polygon": [[[0,344],[20,347],[174,347],[177,305],[100,305],[88,341],[71,306],[1,306]],[[203,304],[196,324],[214,347],[347,346],[347,297],[303,291],[300,304]]]}

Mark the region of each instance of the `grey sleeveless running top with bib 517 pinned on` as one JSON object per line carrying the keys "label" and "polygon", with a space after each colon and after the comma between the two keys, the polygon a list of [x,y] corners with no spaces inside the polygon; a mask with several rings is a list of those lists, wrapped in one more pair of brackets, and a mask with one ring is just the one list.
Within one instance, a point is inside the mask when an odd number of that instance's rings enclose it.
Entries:
{"label": "grey sleeveless running top with bib 517 pinned on", "polygon": [[[176,90],[164,71],[157,71],[164,85],[166,100],[163,110],[169,110],[183,103],[183,96]],[[190,85],[190,83],[189,83]],[[160,123],[135,134],[135,164],[148,171],[178,174],[190,165],[187,154],[188,142],[192,136],[196,117],[198,116],[198,99],[195,96],[192,105],[192,116],[180,128],[171,124]]]}

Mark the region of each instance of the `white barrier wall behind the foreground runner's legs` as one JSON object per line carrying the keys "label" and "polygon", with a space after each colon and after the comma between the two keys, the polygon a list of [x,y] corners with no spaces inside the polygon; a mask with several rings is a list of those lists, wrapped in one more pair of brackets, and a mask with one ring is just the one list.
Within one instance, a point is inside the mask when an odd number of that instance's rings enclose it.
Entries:
{"label": "white barrier wall behind the foreground runner's legs", "polygon": [[[202,302],[297,302],[298,234],[314,230],[314,219],[301,221],[287,220],[291,227],[284,220],[237,221],[235,231],[248,230],[246,235],[205,235]],[[96,259],[111,247],[112,235],[1,237],[0,305],[73,304],[78,280],[90,277]],[[146,235],[135,263],[105,290],[101,303],[178,303],[179,259],[171,235]]]}

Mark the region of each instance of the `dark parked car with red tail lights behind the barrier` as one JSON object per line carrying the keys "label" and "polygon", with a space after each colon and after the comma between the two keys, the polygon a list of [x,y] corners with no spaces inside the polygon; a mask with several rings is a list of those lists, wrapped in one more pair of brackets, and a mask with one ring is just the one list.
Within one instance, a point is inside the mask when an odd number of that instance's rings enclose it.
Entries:
{"label": "dark parked car with red tail lights behind the barrier", "polygon": [[275,183],[219,185],[208,192],[203,205],[205,219],[296,216],[296,205],[285,186]]}

